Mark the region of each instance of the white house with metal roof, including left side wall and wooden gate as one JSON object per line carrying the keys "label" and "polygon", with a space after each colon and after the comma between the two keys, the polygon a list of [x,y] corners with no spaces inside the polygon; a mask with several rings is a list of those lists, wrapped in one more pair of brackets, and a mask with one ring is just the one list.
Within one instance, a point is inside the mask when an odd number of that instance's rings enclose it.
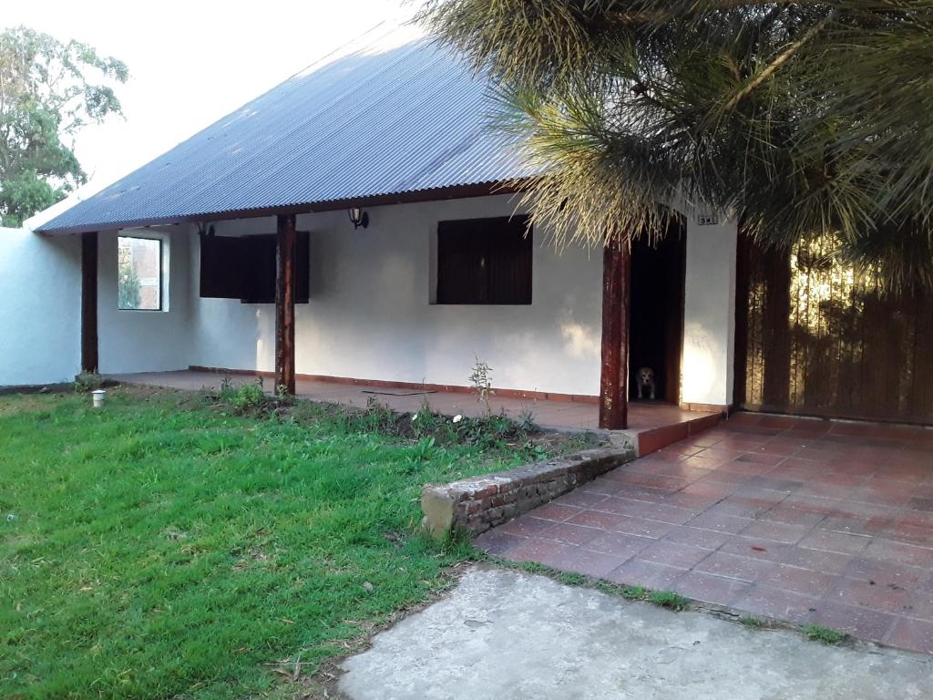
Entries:
{"label": "white house with metal roof, including left side wall and wooden gate", "polygon": [[17,329],[0,385],[83,367],[460,386],[480,358],[501,390],[601,398],[606,427],[624,424],[612,402],[641,366],[687,408],[933,422],[933,361],[912,350],[933,340],[926,300],[884,341],[909,376],[879,403],[859,368],[886,331],[851,318],[875,302],[840,267],[759,251],[690,209],[631,259],[523,238],[511,192],[534,171],[487,126],[488,100],[446,50],[377,31],[37,235],[0,232],[0,320]]}

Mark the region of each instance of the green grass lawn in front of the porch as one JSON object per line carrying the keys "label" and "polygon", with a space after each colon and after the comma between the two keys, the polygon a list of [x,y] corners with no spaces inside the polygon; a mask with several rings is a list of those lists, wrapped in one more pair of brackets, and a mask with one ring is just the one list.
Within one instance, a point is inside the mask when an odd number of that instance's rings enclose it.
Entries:
{"label": "green grass lawn in front of the porch", "polygon": [[0,397],[2,697],[288,696],[277,662],[313,673],[472,552],[414,536],[423,483],[528,457],[109,394]]}

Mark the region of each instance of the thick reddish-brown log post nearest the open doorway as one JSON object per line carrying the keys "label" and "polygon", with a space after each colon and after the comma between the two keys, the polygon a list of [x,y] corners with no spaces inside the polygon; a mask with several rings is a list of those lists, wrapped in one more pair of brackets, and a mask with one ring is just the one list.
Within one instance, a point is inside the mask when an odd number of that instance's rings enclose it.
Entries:
{"label": "thick reddish-brown log post nearest the open doorway", "polygon": [[629,420],[629,321],[632,251],[628,243],[603,249],[603,364],[599,427],[621,430]]}

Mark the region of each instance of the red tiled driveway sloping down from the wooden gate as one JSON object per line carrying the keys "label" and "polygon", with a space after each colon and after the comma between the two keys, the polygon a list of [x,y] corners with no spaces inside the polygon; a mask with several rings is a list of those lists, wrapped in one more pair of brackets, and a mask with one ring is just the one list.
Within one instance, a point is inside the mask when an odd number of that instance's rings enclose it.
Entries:
{"label": "red tiled driveway sloping down from the wooden gate", "polygon": [[933,430],[740,413],[478,539],[933,652]]}

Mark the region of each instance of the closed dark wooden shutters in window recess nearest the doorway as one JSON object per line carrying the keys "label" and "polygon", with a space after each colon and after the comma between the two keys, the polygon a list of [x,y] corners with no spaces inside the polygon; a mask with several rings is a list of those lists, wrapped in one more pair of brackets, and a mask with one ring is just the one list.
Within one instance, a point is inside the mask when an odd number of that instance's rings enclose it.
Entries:
{"label": "closed dark wooden shutters in window recess nearest the doorway", "polygon": [[530,304],[532,236],[527,217],[440,221],[441,304]]}

